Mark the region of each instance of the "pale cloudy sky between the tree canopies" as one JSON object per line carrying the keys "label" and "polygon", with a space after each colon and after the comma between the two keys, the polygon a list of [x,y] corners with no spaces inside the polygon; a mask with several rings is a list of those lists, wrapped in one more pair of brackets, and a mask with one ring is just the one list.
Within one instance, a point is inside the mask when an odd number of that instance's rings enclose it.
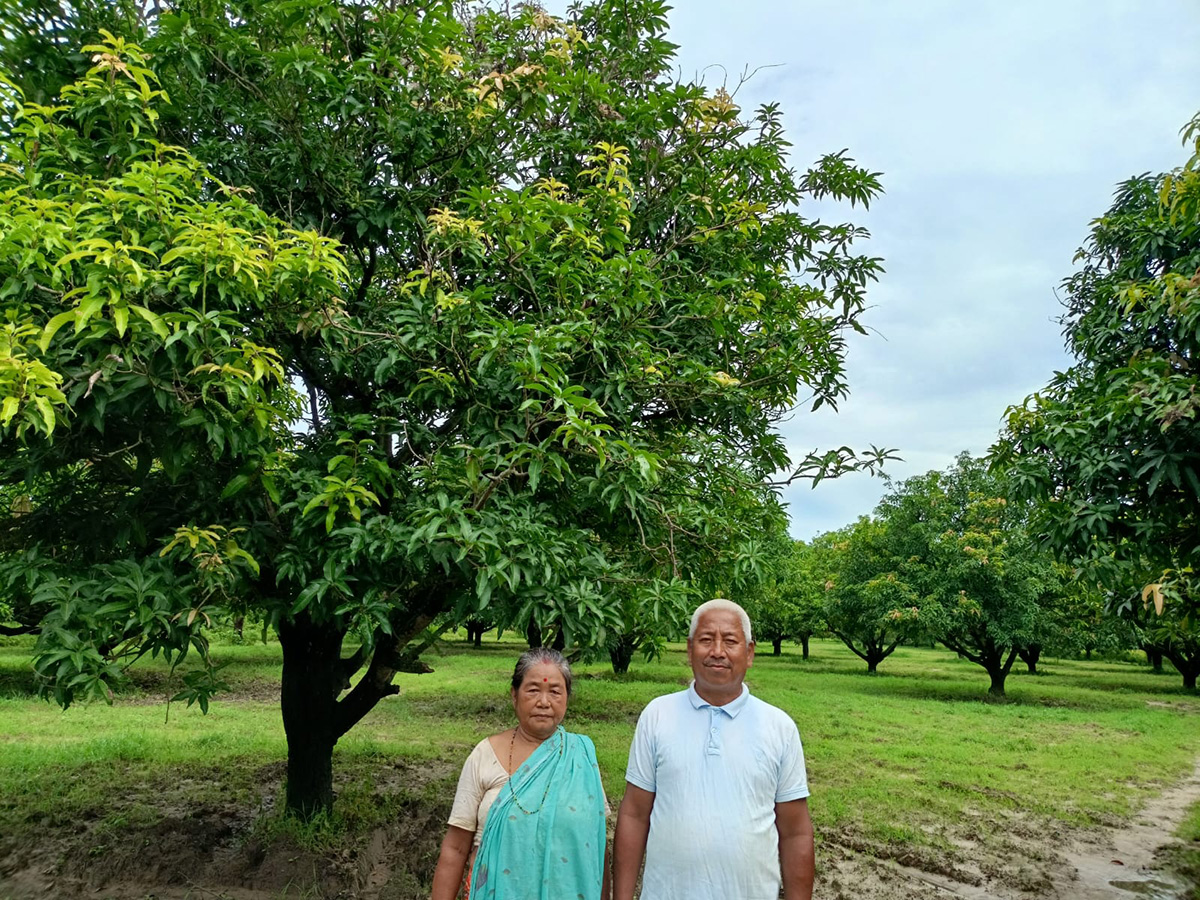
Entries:
{"label": "pale cloudy sky between the tree canopies", "polygon": [[[894,448],[895,479],[986,452],[1004,409],[1069,365],[1056,289],[1088,223],[1121,180],[1187,158],[1200,110],[1195,0],[677,0],[670,18],[684,78],[758,70],[737,101],[781,104],[797,168],[847,148],[883,173],[865,215],[812,210],[865,224],[887,271],[850,398],[782,431],[797,458]],[[792,534],[847,524],[884,490],[793,485]]]}

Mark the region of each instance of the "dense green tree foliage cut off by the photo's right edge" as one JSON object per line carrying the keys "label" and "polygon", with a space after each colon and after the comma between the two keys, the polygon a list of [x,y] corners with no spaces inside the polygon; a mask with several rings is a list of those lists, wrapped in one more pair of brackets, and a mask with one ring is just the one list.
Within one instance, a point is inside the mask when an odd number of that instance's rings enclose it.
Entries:
{"label": "dense green tree foliage cut off by the photo's right edge", "polygon": [[[1188,128],[1200,139],[1200,119]],[[1200,144],[1196,144],[1200,148]],[[1200,674],[1200,173],[1120,186],[1063,282],[1075,364],[1008,412],[996,466],[1039,502],[1037,528]]]}

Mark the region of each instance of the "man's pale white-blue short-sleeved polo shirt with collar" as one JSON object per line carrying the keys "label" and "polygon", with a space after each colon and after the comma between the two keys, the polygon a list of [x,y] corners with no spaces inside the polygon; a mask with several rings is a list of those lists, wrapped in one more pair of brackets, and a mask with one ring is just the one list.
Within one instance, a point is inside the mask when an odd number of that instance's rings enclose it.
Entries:
{"label": "man's pale white-blue short-sleeved polo shirt with collar", "polygon": [[641,900],[776,900],[775,804],[809,796],[787,713],[745,685],[724,707],[695,684],[656,697],[637,720],[625,780],[654,793]]}

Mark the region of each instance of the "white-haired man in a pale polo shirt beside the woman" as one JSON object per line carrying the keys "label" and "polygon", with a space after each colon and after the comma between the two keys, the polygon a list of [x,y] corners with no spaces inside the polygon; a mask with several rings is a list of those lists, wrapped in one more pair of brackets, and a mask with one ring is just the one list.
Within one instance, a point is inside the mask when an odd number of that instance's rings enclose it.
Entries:
{"label": "white-haired man in a pale polo shirt beside the woman", "polygon": [[750,618],[728,600],[691,617],[695,682],[642,710],[617,815],[613,900],[812,896],[812,821],[804,750],[781,709],[743,684]]}

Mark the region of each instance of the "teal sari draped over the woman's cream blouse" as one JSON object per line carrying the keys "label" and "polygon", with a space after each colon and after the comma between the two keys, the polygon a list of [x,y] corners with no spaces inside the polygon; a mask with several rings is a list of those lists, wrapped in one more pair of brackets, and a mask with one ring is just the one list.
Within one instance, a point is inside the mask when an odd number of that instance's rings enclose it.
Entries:
{"label": "teal sari draped over the woman's cream blouse", "polygon": [[492,804],[470,900],[598,900],[605,838],[595,746],[559,726]]}

